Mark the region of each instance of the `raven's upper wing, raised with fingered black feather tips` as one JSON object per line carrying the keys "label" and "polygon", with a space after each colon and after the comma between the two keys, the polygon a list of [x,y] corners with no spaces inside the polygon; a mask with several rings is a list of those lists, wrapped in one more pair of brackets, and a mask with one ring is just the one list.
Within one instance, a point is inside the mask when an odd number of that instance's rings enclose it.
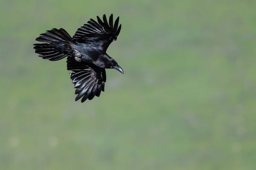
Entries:
{"label": "raven's upper wing, raised with fingered black feather tips", "polygon": [[118,27],[119,17],[113,24],[113,14],[109,17],[109,23],[106,15],[103,15],[103,22],[97,16],[98,22],[90,19],[87,24],[84,24],[76,31],[73,40],[76,42],[90,43],[98,45],[103,51],[107,51],[108,46],[116,40],[121,30],[121,24]]}

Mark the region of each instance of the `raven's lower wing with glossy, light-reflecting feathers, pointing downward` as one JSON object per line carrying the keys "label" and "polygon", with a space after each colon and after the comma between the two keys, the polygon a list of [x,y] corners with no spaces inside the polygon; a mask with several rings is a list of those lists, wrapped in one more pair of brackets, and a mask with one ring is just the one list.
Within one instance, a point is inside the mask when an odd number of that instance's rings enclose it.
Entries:
{"label": "raven's lower wing with glossy, light-reflecting feathers, pointing downward", "polygon": [[73,71],[70,73],[70,78],[76,88],[75,94],[78,94],[76,101],[81,97],[83,97],[81,102],[91,100],[94,96],[99,97],[101,91],[104,91],[106,82],[104,68],[90,63],[77,62],[73,57],[67,57],[67,70]]}

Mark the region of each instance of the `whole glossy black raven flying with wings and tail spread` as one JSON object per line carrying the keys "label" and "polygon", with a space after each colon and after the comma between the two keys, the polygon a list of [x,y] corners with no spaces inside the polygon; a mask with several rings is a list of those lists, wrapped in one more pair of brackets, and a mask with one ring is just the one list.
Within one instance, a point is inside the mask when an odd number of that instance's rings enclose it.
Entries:
{"label": "whole glossy black raven flying with wings and tail spread", "polygon": [[63,28],[52,28],[35,39],[44,42],[34,44],[35,53],[39,57],[50,61],[67,57],[67,70],[72,71],[70,78],[76,88],[76,101],[82,98],[81,102],[84,102],[94,96],[99,97],[105,87],[105,68],[114,68],[124,73],[116,60],[106,53],[108,46],[120,33],[119,17],[114,23],[113,14],[109,21],[105,14],[103,21],[98,16],[97,20],[90,19],[73,37]]}

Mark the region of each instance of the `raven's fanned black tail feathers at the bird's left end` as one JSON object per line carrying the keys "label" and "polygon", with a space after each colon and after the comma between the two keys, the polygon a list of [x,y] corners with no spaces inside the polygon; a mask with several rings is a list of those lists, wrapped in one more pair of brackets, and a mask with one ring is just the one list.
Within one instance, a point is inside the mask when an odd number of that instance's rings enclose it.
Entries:
{"label": "raven's fanned black tail feathers at the bird's left end", "polygon": [[35,40],[46,42],[34,44],[34,49],[35,53],[39,54],[39,57],[49,59],[50,61],[63,59],[72,50],[72,38],[63,28],[52,28],[52,30],[40,34]]}

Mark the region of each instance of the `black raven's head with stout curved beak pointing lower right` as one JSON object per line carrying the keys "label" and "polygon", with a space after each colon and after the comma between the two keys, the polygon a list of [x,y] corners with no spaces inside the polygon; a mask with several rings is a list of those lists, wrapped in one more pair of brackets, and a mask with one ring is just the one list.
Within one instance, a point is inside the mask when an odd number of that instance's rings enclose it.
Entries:
{"label": "black raven's head with stout curved beak pointing lower right", "polygon": [[117,64],[116,60],[111,58],[108,54],[100,55],[99,58],[94,62],[100,68],[113,68],[124,74],[122,68]]}

